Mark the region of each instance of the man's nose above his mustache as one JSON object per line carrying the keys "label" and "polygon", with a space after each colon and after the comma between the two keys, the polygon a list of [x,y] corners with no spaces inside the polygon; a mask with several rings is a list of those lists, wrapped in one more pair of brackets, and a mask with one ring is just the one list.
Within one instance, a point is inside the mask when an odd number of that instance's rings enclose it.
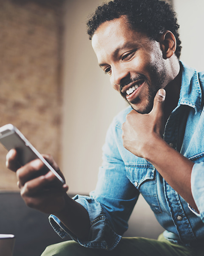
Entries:
{"label": "man's nose above his mustache", "polygon": [[129,70],[123,67],[112,67],[111,70],[111,84],[113,89],[119,90],[122,79],[130,76]]}

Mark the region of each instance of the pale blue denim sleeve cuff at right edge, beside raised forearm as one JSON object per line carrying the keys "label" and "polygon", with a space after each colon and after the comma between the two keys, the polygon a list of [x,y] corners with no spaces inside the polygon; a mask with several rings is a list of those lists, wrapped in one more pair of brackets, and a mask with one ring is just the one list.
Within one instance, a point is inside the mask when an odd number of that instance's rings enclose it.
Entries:
{"label": "pale blue denim sleeve cuff at right edge, beside raised forearm", "polygon": [[191,190],[199,214],[190,209],[204,222],[204,162],[195,163],[191,173]]}

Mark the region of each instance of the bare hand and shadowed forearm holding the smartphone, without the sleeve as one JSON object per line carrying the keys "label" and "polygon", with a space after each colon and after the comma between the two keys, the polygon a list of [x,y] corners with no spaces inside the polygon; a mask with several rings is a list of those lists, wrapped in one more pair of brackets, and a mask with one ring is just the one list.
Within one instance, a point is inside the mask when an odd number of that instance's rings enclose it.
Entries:
{"label": "bare hand and shadowed forearm holding the smartphone, without the sleeve", "polygon": [[[63,177],[52,157],[44,157]],[[17,152],[12,149],[7,154],[6,166],[16,172],[21,196],[28,207],[57,216],[68,230],[80,239],[88,240],[88,212],[67,195],[68,186],[59,184],[53,173],[45,169],[41,160],[34,160],[20,167],[17,164]]]}

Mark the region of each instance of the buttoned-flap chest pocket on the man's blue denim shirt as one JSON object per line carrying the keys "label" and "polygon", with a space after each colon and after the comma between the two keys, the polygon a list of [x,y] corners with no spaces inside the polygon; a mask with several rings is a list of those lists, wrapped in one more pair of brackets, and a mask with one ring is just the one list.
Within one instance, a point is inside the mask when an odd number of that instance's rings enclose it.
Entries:
{"label": "buttoned-flap chest pocket on the man's blue denim shirt", "polygon": [[161,213],[156,188],[156,169],[153,166],[125,166],[126,176],[139,190],[154,213]]}

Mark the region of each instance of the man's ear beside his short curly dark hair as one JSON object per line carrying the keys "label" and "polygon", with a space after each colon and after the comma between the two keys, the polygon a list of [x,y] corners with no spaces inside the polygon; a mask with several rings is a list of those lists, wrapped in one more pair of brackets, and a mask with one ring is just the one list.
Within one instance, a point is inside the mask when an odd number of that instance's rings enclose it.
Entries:
{"label": "man's ear beside his short curly dark hair", "polygon": [[176,51],[176,38],[169,30],[165,31],[159,38],[163,58],[170,58]]}

